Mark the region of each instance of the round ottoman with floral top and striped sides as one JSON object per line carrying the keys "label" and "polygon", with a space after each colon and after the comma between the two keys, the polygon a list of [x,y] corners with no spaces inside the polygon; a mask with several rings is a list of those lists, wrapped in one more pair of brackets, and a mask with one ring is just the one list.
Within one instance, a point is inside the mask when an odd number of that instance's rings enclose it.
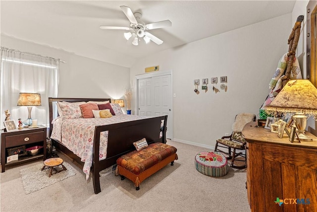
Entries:
{"label": "round ottoman with floral top and striped sides", "polygon": [[212,177],[222,177],[228,173],[227,158],[220,152],[202,151],[195,157],[196,169]]}

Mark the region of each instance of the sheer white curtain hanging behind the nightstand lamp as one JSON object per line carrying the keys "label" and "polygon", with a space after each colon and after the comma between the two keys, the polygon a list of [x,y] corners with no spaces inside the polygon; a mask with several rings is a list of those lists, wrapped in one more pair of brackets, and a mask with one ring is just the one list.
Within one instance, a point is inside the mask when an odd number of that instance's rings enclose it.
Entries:
{"label": "sheer white curtain hanging behind the nightstand lamp", "polygon": [[49,127],[49,97],[57,97],[58,67],[59,60],[1,47],[1,123],[5,110],[16,125],[19,118],[26,120],[27,107],[17,106],[19,93],[40,93],[42,106],[33,106],[31,118]]}

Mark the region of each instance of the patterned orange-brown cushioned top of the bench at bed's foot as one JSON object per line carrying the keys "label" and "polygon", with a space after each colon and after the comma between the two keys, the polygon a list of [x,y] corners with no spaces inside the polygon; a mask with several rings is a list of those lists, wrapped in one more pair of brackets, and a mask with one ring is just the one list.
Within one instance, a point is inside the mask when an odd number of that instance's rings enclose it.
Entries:
{"label": "patterned orange-brown cushioned top of the bench at bed's foot", "polygon": [[165,143],[151,143],[140,151],[134,150],[122,155],[117,159],[117,164],[138,175],[176,151],[174,146]]}

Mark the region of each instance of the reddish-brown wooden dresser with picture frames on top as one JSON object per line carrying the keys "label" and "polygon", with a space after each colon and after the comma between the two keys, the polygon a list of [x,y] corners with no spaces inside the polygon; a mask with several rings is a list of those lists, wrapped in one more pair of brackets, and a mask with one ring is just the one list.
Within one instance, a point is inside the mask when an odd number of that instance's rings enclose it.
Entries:
{"label": "reddish-brown wooden dresser with picture frames on top", "polygon": [[251,211],[317,212],[317,141],[291,143],[286,133],[280,139],[255,126],[250,122],[242,131]]}

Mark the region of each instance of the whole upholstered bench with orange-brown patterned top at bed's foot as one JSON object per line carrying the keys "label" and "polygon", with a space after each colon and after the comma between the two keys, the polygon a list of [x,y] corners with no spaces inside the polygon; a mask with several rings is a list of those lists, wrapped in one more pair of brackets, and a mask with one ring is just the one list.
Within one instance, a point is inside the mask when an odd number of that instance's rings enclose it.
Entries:
{"label": "whole upholstered bench with orange-brown patterned top at bed's foot", "polygon": [[140,189],[140,184],[146,178],[159,171],[168,163],[174,164],[177,160],[177,149],[165,143],[152,143],[149,146],[134,150],[117,159],[116,175],[128,178]]}

